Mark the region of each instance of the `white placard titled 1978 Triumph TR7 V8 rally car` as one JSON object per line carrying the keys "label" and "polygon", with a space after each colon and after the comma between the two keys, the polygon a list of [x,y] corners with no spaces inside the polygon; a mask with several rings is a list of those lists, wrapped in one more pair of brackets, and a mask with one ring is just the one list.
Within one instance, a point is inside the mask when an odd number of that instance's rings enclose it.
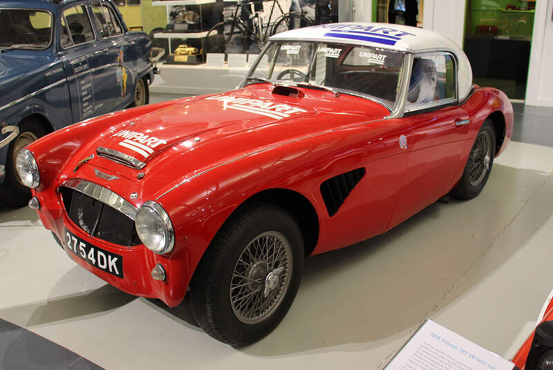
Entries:
{"label": "white placard titled 1978 Triumph TR7 V8 rally car", "polygon": [[512,370],[514,364],[496,353],[425,321],[384,370]]}

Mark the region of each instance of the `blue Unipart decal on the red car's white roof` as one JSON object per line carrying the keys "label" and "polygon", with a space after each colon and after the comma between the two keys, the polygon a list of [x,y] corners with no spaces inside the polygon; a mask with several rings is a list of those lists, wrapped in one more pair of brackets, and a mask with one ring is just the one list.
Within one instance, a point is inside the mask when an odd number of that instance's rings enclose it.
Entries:
{"label": "blue Unipart decal on the red car's white roof", "polygon": [[397,41],[404,37],[416,37],[413,33],[396,30],[395,28],[365,26],[362,24],[321,24],[312,28],[330,30],[325,36],[376,42],[385,45],[395,45]]}

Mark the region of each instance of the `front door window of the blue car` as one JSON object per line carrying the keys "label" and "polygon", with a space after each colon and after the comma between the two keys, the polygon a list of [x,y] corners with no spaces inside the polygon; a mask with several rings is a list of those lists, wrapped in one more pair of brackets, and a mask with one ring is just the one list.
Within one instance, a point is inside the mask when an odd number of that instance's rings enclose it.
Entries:
{"label": "front door window of the blue car", "polygon": [[91,21],[84,6],[72,6],[64,10],[59,37],[64,48],[94,40]]}

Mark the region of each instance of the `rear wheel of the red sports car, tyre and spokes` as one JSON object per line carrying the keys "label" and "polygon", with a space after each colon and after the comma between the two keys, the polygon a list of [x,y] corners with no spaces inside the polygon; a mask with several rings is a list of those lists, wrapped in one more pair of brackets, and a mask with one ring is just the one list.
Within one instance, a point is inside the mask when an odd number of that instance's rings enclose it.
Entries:
{"label": "rear wheel of the red sports car, tyre and spokes", "polygon": [[484,189],[496,156],[496,131],[494,124],[485,120],[472,146],[465,171],[451,195],[459,199],[472,199]]}

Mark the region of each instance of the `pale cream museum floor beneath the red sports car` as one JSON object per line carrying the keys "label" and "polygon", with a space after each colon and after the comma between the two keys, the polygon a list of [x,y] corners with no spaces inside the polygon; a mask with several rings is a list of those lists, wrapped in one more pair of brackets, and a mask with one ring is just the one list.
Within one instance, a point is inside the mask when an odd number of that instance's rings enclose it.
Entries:
{"label": "pale cream museum floor beneath the red sports car", "polygon": [[[473,201],[434,203],[308,259],[283,322],[243,349],[191,324],[187,302],[169,309],[106,285],[35,211],[0,205],[0,319],[104,369],[382,369],[427,318],[510,358],[553,288],[552,172],[553,147],[511,142]],[[17,335],[24,343],[0,351],[1,369],[18,355],[28,369],[60,368]]]}

